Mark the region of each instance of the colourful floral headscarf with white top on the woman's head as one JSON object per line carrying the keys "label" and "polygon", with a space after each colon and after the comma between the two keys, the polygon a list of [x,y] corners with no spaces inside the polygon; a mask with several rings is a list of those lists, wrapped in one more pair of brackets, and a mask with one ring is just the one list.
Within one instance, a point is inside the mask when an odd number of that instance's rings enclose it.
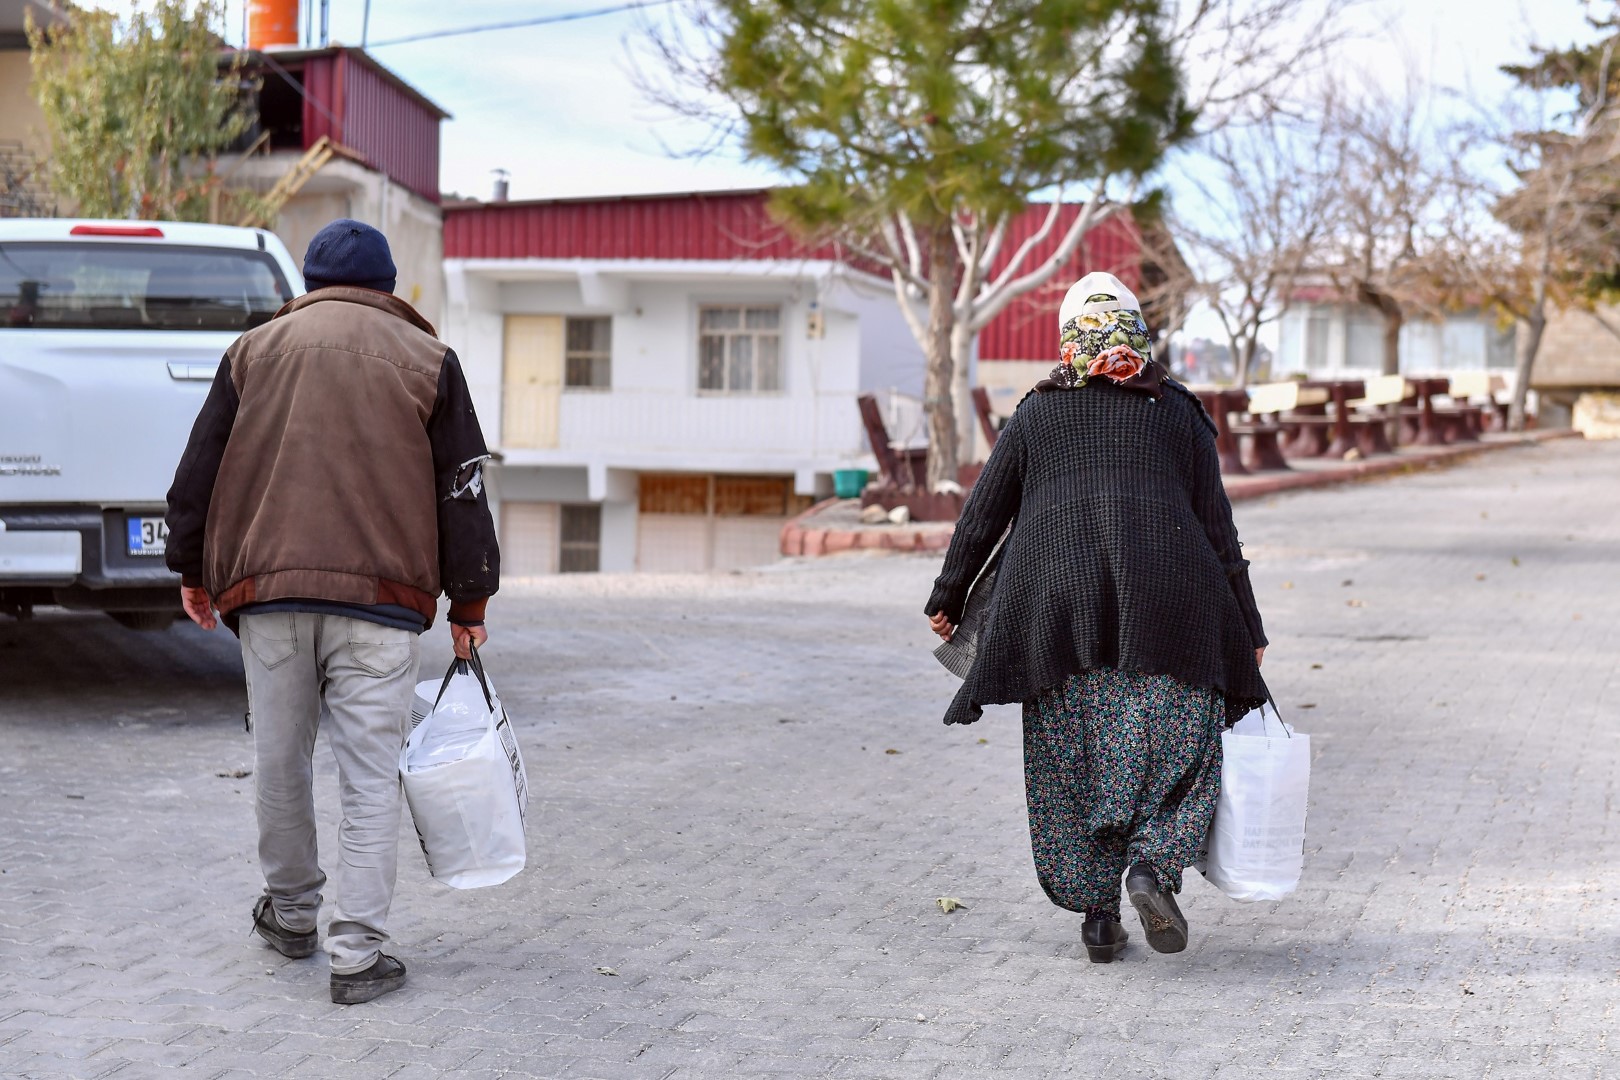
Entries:
{"label": "colourful floral headscarf with white top on the woman's head", "polygon": [[1059,364],[1038,389],[1077,390],[1103,377],[1158,400],[1163,372],[1136,296],[1111,274],[1087,274],[1058,316]]}

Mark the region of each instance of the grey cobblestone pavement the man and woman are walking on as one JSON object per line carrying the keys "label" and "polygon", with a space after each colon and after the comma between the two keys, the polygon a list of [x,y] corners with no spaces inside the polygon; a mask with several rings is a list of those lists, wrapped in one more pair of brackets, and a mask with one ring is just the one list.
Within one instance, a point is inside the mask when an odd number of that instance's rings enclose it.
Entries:
{"label": "grey cobblestone pavement the man and woman are walking on", "polygon": [[0,1075],[1620,1075],[1617,484],[1567,440],[1243,505],[1306,876],[1189,874],[1191,947],[1108,967],[1035,884],[1017,709],[940,725],[936,559],[509,589],[531,866],[455,892],[407,839],[410,983],[353,1007],[249,936],[233,640],[0,625]]}

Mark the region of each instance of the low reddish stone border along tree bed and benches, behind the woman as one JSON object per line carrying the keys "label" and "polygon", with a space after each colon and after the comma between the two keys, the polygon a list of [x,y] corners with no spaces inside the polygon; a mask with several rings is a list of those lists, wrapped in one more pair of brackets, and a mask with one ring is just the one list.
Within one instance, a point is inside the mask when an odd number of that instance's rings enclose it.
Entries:
{"label": "low reddish stone border along tree bed and benches, behind the woman", "polygon": [[[1537,445],[1552,439],[1573,439],[1578,431],[1531,431],[1516,439],[1490,439],[1489,442],[1473,442],[1464,445],[1434,447],[1405,455],[1380,457],[1369,461],[1346,463],[1336,468],[1264,473],[1249,476],[1233,476],[1226,481],[1226,497],[1233,502],[1247,499],[1265,499],[1285,491],[1302,491],[1306,487],[1328,487],[1332,484],[1348,484],[1358,479],[1372,479],[1406,473],[1435,465],[1448,465],[1487,450],[1505,450],[1510,447]],[[846,551],[944,551],[951,546],[954,526],[944,528],[933,523],[933,528],[919,525],[873,526],[868,529],[818,529],[807,525],[810,518],[821,513],[842,499],[823,499],[799,517],[782,526],[781,554],[784,557],[816,559],[820,555],[836,555]]]}

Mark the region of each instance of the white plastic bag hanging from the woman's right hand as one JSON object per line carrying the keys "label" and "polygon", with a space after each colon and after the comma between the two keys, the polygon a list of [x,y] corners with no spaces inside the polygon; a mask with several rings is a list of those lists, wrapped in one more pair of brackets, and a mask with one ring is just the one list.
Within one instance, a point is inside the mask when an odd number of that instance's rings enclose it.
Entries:
{"label": "white plastic bag hanging from the woman's right hand", "polygon": [[1257,709],[1220,737],[1220,800],[1204,876],[1233,900],[1281,900],[1299,884],[1311,737]]}

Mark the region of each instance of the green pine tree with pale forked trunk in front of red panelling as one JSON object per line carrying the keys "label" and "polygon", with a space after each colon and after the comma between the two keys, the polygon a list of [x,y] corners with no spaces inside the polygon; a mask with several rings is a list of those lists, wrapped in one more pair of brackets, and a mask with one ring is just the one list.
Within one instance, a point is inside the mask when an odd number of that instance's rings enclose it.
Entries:
{"label": "green pine tree with pale forked trunk in front of red panelling", "polygon": [[[974,335],[1192,131],[1163,5],[719,0],[708,11],[716,53],[688,74],[734,108],[750,157],[794,178],[774,201],[782,215],[891,274],[928,358],[928,483],[954,481],[953,376]],[[1058,233],[1053,207],[1042,238],[1061,236],[1056,256],[1030,266],[1024,246],[991,279],[1008,222],[1066,186],[1089,201]],[[925,321],[912,306],[923,296]]]}

